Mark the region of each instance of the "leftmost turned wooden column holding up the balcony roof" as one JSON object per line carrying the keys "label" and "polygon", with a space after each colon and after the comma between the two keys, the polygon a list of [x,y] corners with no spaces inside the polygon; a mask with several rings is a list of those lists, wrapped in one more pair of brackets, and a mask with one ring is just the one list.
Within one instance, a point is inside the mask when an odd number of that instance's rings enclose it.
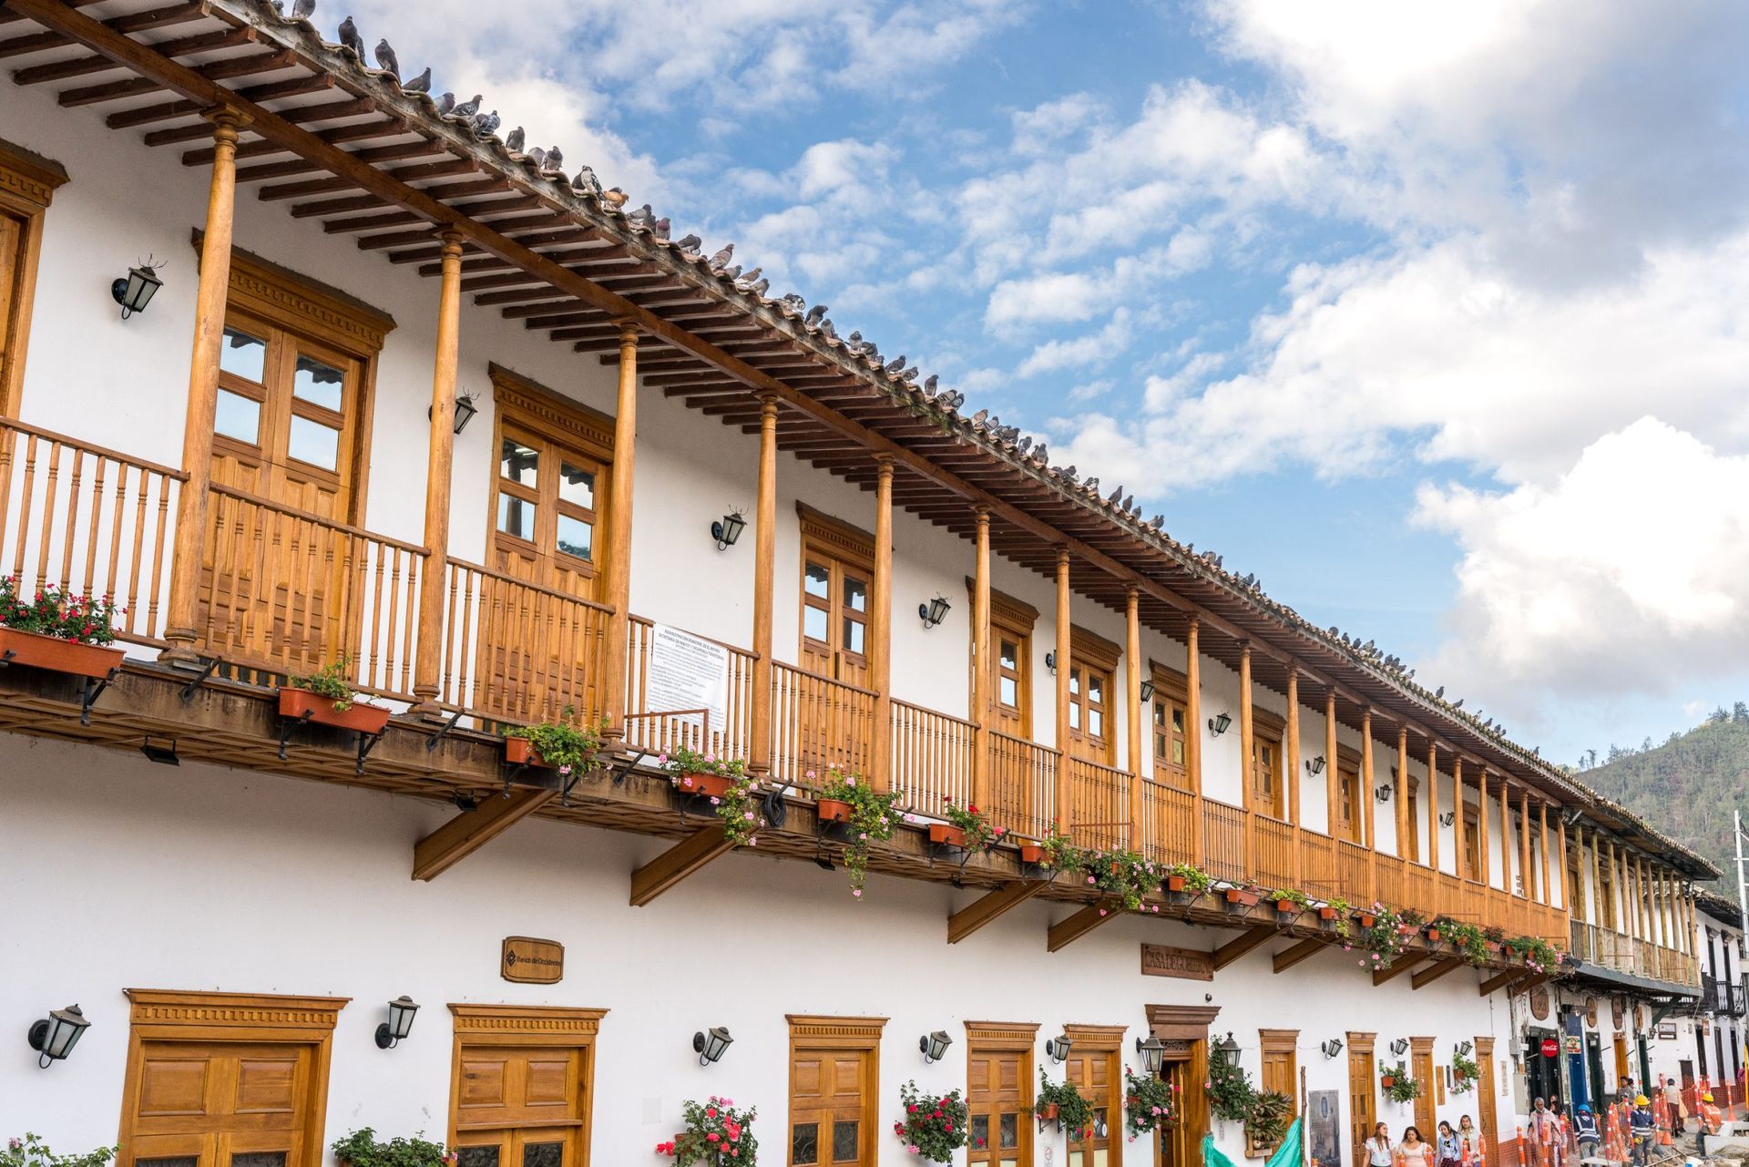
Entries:
{"label": "leftmost turned wooden column holding up the balcony roof", "polygon": [[189,359],[189,406],[182,427],[182,471],[187,479],[177,497],[177,534],[170,560],[170,600],[159,654],[194,665],[194,609],[199,604],[201,556],[213,478],[213,409],[219,402],[219,352],[224,341],[224,306],[231,289],[231,234],[236,213],[236,136],[248,119],[233,108],[206,114],[213,124],[213,171],[206,187],[206,231],[194,292],[194,350]]}

